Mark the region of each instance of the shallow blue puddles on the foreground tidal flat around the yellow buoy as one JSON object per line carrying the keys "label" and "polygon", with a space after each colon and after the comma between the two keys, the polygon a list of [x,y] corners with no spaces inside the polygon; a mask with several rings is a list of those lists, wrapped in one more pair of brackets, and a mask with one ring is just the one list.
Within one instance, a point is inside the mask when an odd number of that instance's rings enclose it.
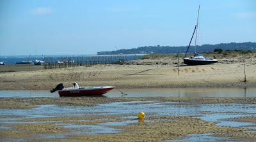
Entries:
{"label": "shallow blue puddles on the foreground tidal flat around the yellow buoy", "polygon": [[[2,126],[0,129],[10,129],[4,127],[8,123],[20,123],[19,119],[24,118],[42,118],[42,117],[70,117],[88,115],[120,115],[134,114],[122,117],[124,121],[121,122],[106,122],[97,125],[79,125],[79,124],[63,124],[63,122],[56,121],[56,125],[63,127],[77,129],[73,132],[63,132],[61,134],[40,134],[41,138],[66,138],[72,134],[102,134],[102,133],[116,133],[120,132],[118,129],[112,128],[114,125],[126,125],[131,123],[138,123],[135,120],[136,114],[143,111],[146,115],[170,115],[170,116],[186,116],[195,115],[198,118],[206,121],[218,122],[217,125],[227,125],[233,127],[252,127],[252,123],[246,122],[230,122],[224,118],[234,117],[250,117],[255,116],[256,104],[191,104],[183,105],[176,102],[159,102],[159,101],[131,101],[131,102],[118,102],[99,104],[98,106],[58,106],[58,105],[42,105],[39,108],[32,109],[1,109],[0,115],[24,115],[21,118],[0,118]],[[208,113],[205,113],[208,112]],[[31,122],[22,122],[31,123]],[[40,122],[37,122],[40,123]],[[250,140],[250,139],[249,139]],[[248,139],[234,139],[234,138],[216,138],[211,134],[192,134],[186,138],[176,141],[249,141]],[[4,141],[12,141],[11,139],[4,139]],[[20,139],[17,139],[20,141]]]}

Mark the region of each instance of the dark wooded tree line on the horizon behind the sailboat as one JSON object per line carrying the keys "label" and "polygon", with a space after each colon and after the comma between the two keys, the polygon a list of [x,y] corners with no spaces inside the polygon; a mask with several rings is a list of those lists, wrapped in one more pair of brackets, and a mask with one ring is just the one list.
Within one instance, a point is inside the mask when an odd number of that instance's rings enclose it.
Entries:
{"label": "dark wooded tree line on the horizon behind the sailboat", "polygon": [[[147,53],[185,53],[188,46],[141,46],[131,49],[120,49],[114,51],[97,52],[97,55],[118,55],[118,54],[147,54]],[[244,43],[220,43],[216,45],[198,45],[196,52],[214,52],[214,49],[225,50],[256,50],[255,42]],[[195,46],[189,47],[189,53],[195,52]]]}

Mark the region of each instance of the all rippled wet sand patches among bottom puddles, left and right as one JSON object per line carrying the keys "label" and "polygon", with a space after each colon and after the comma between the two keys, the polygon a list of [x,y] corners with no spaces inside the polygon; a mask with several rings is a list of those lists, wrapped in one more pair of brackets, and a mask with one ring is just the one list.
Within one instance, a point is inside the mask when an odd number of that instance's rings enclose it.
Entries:
{"label": "all rippled wet sand patches among bottom puddles, left and right", "polygon": [[[256,138],[253,132],[245,133],[253,129],[216,126],[216,122],[207,122],[193,117],[162,116],[157,118],[148,117],[148,119],[152,122],[116,126],[116,129],[121,132],[114,134],[74,134],[65,139],[35,138],[35,134],[58,134],[72,131],[72,129],[46,122],[40,124],[8,124],[12,128],[8,131],[1,129],[0,134],[4,139],[29,138],[31,141],[163,141],[188,136],[188,134],[225,133],[226,136],[228,134],[232,136],[235,132],[237,138],[245,136],[246,138]],[[112,121],[116,122],[116,120]],[[111,122],[111,120],[108,120],[108,122]],[[97,124],[100,121],[94,123]]]}

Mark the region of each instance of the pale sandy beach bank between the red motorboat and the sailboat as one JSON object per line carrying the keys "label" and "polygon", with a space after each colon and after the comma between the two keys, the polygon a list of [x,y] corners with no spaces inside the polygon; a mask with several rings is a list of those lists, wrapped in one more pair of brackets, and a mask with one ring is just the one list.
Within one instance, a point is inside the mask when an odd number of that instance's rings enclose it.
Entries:
{"label": "pale sandy beach bank between the red motorboat and the sailboat", "polygon": [[1,66],[0,90],[45,90],[58,83],[71,86],[112,85],[118,89],[172,87],[255,87],[256,60],[246,59],[246,79],[241,58],[220,59],[217,64],[186,66],[175,59],[134,60],[125,64],[42,69],[30,66]]}

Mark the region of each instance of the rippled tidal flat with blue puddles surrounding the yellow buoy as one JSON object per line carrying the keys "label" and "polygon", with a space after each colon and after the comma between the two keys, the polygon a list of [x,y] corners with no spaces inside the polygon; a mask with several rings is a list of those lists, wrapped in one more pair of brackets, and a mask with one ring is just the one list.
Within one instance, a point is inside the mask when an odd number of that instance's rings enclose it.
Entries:
{"label": "rippled tidal flat with blue puddles surrounding the yellow buoy", "polygon": [[[182,141],[206,135],[211,141],[250,141],[256,139],[255,102],[255,97],[1,97],[0,136],[1,141]],[[143,120],[136,117],[140,111]]]}

